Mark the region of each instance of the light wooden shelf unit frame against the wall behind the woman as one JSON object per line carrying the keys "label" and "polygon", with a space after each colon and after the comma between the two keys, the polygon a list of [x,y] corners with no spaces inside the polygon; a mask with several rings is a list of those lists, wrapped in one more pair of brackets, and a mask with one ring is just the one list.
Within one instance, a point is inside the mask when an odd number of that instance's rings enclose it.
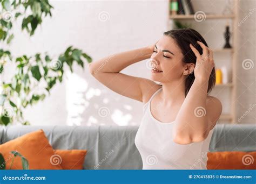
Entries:
{"label": "light wooden shelf unit frame against the wall behind the woman", "polygon": [[[228,123],[237,123],[237,121],[235,121],[235,91],[236,91],[236,87],[237,87],[237,83],[235,80],[236,77],[236,73],[237,73],[237,34],[238,34],[238,30],[235,28],[235,23],[238,23],[238,0],[233,0],[234,2],[234,7],[233,7],[233,14],[232,15],[205,15],[205,20],[204,21],[211,21],[213,19],[231,19],[233,21],[233,26],[231,27],[231,39],[232,39],[232,48],[215,48],[213,49],[214,53],[228,53],[232,55],[232,79],[231,82],[227,83],[227,84],[216,84],[215,88],[220,88],[223,87],[225,88],[231,88],[231,112],[230,114],[221,114],[219,120],[220,121],[226,121]],[[193,3],[193,0],[192,0]],[[170,11],[169,11],[170,13]],[[195,15],[169,15],[169,20],[171,19],[178,19],[178,20],[194,20],[194,16]]]}

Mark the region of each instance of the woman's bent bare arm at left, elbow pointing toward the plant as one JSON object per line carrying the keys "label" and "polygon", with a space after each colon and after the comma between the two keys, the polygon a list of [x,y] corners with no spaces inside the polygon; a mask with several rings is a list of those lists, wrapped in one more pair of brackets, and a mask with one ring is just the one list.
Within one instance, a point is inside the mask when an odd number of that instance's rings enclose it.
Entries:
{"label": "woman's bent bare arm at left, elbow pointing toward the plant", "polygon": [[91,62],[89,64],[90,73],[116,93],[145,102],[152,92],[159,88],[158,84],[149,79],[120,73],[120,71],[133,63],[150,58],[153,47],[133,49]]}

